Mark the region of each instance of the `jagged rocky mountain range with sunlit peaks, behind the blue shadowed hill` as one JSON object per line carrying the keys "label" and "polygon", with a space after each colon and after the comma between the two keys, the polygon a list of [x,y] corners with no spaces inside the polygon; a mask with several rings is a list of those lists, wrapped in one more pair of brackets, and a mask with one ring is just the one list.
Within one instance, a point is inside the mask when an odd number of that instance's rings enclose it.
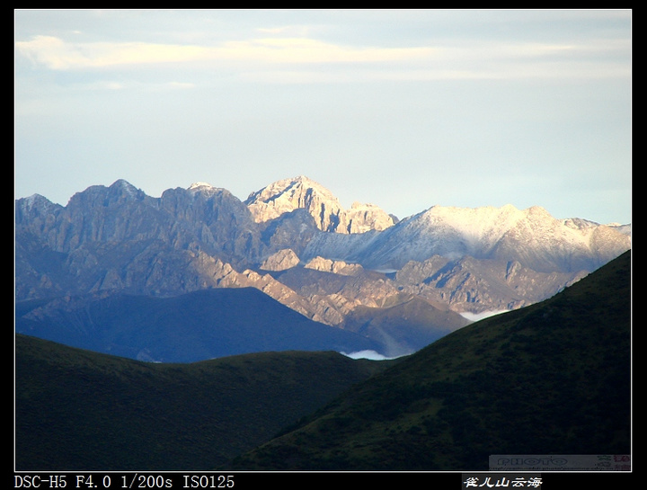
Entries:
{"label": "jagged rocky mountain range with sunlit peaks, behind the blue shadowed hill", "polygon": [[207,183],[153,198],[120,180],[65,207],[16,200],[15,296],[253,287],[317,322],[396,339],[394,353],[411,348],[397,341],[408,328],[420,348],[466,325],[459,313],[553,296],[628,250],[630,230],[512,206],[434,206],[398,222],[373,205],[343,209],[306,177],[244,202]]}

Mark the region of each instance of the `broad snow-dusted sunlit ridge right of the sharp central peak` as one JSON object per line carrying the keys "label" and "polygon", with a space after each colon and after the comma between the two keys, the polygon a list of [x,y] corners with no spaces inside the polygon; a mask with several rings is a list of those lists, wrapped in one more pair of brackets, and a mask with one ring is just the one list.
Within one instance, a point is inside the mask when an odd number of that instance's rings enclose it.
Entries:
{"label": "broad snow-dusted sunlit ridge right of the sharp central peak", "polygon": [[517,260],[537,272],[574,272],[593,271],[630,247],[631,238],[613,227],[553,218],[538,206],[433,206],[365,236],[315,236],[302,259],[320,255],[385,270],[432,255],[469,255]]}

